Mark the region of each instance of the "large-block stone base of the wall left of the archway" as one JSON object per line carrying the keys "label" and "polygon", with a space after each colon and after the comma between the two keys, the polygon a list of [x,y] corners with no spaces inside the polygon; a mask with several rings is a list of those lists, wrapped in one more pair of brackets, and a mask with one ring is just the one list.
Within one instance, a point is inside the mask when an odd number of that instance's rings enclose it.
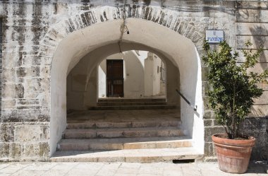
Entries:
{"label": "large-block stone base of the wall left of the archway", "polygon": [[49,160],[47,122],[3,123],[0,126],[1,160]]}

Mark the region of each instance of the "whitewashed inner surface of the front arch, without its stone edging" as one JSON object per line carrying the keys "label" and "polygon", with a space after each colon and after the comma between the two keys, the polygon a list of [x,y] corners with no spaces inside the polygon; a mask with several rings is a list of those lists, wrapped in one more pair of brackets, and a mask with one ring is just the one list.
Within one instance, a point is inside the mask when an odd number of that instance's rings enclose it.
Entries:
{"label": "whitewashed inner surface of the front arch, without its stone edging", "polygon": [[[57,47],[51,66],[50,155],[56,151],[56,143],[61,139],[63,130],[66,129],[66,77],[68,73],[88,54],[96,54],[106,49],[106,54],[99,53],[99,57],[90,57],[104,59],[114,54],[115,50],[118,51],[116,44],[120,37],[118,30],[120,24],[121,20],[112,20],[77,30],[64,38]],[[138,46],[142,46],[142,50],[152,51],[163,58],[166,63],[169,62],[178,68],[179,89],[190,102],[198,107],[197,112],[193,112],[184,100],[180,100],[183,129],[185,134],[194,139],[195,146],[203,152],[201,66],[195,45],[188,38],[151,21],[130,18],[128,28],[131,29],[130,35],[123,36],[123,47],[126,50],[138,49]],[[98,64],[99,59],[90,59],[91,68],[96,68]],[[166,91],[166,96],[169,98],[168,91]]]}

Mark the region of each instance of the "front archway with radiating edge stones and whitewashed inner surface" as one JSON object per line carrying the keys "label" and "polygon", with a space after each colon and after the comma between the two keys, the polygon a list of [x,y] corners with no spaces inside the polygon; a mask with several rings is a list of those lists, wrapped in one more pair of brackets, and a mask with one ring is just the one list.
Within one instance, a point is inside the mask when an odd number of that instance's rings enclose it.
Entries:
{"label": "front archway with radiating edge stones and whitewashed inner surface", "polygon": [[[56,150],[56,143],[66,128],[66,74],[85,54],[98,47],[118,42],[119,26],[122,23],[122,20],[119,20],[121,10],[100,7],[73,18],[63,19],[51,27],[42,40],[42,49],[51,53],[49,57],[53,59],[50,155]],[[181,100],[183,128],[193,137],[195,146],[200,146],[199,150],[203,152],[202,80],[200,58],[197,54],[197,49],[202,46],[202,35],[195,31],[194,25],[179,20],[173,11],[133,6],[128,8],[127,13],[127,24],[131,34],[124,35],[123,42],[150,46],[178,66],[181,73],[180,89],[198,106],[197,113],[194,113]]]}

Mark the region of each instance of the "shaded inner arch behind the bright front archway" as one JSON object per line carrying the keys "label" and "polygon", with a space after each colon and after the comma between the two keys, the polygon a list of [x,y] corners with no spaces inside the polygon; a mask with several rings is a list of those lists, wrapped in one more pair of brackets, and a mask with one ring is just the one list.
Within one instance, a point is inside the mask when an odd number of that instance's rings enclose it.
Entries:
{"label": "shaded inner arch behind the bright front archway", "polygon": [[[100,64],[100,62],[102,61],[102,59],[105,59],[106,57],[109,57],[109,55],[111,54],[116,54],[119,52],[118,50],[118,44],[114,43],[114,44],[110,44],[110,45],[105,45],[103,47],[99,47],[95,50],[93,50],[92,52],[88,53],[85,55],[85,57],[83,57],[82,59],[80,59],[79,63],[73,68],[76,69],[75,73],[77,74],[77,76],[82,76],[79,78],[79,85],[80,85],[80,91],[73,93],[73,96],[71,98],[71,100],[73,100],[73,102],[68,101],[67,98],[67,106],[71,105],[75,108],[71,109],[71,110],[86,110],[87,107],[89,105],[92,106],[96,106],[97,105],[97,88],[92,88],[92,93],[90,93],[90,95],[92,95],[92,98],[85,98],[84,95],[84,91],[81,90],[86,90],[88,87],[87,85],[89,84],[89,80],[90,80],[90,76],[93,74],[94,69]],[[166,95],[166,99],[167,99],[167,105],[178,105],[178,100],[179,100],[179,95],[174,91],[176,88],[179,88],[179,72],[178,72],[178,68],[168,59],[166,58],[163,54],[161,54],[160,52],[155,51],[154,49],[147,47],[145,45],[139,45],[139,44],[135,44],[135,43],[123,43],[123,45],[121,45],[121,51],[128,51],[128,50],[146,50],[148,52],[152,52],[154,54],[157,54],[162,61],[164,61],[164,64],[166,65],[166,71],[167,74],[169,76],[166,77],[166,81],[167,81],[167,86],[166,86],[166,90],[167,90],[167,95]],[[90,58],[96,58],[96,59],[90,59]],[[73,70],[72,70],[73,71]],[[68,88],[67,91],[69,90],[68,93],[71,93],[71,76],[70,74],[72,73],[72,71],[70,73],[68,73]],[[178,73],[175,75],[173,75],[173,73]],[[96,74],[96,73],[95,73]],[[94,74],[93,74],[94,75]],[[75,77],[78,78],[78,77]],[[92,83],[94,84],[94,83]],[[83,85],[83,86],[82,86]],[[97,85],[96,85],[97,86]],[[173,92],[171,92],[173,91]],[[87,90],[87,95],[88,95],[89,90]],[[69,94],[70,95],[70,94]],[[90,100],[89,100],[90,99]],[[86,101],[90,101],[90,102],[86,102]],[[73,105],[71,104],[73,103]],[[86,105],[87,104],[87,105]]]}

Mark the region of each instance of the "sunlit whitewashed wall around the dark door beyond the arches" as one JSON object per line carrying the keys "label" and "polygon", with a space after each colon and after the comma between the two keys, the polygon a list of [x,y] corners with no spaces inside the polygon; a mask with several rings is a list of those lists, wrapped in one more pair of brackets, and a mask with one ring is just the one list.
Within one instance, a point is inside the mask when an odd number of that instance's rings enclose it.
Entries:
{"label": "sunlit whitewashed wall around the dark door beyond the arches", "polygon": [[[106,59],[123,59],[124,98],[143,98],[145,96],[159,95],[160,93],[160,68],[162,60],[156,54],[150,62],[151,68],[146,67],[148,58],[146,51],[128,51],[113,54]],[[99,98],[106,97],[106,59],[99,64],[98,86]],[[148,84],[150,86],[148,86]],[[147,92],[147,94],[145,94]],[[149,94],[150,93],[150,94]]]}

